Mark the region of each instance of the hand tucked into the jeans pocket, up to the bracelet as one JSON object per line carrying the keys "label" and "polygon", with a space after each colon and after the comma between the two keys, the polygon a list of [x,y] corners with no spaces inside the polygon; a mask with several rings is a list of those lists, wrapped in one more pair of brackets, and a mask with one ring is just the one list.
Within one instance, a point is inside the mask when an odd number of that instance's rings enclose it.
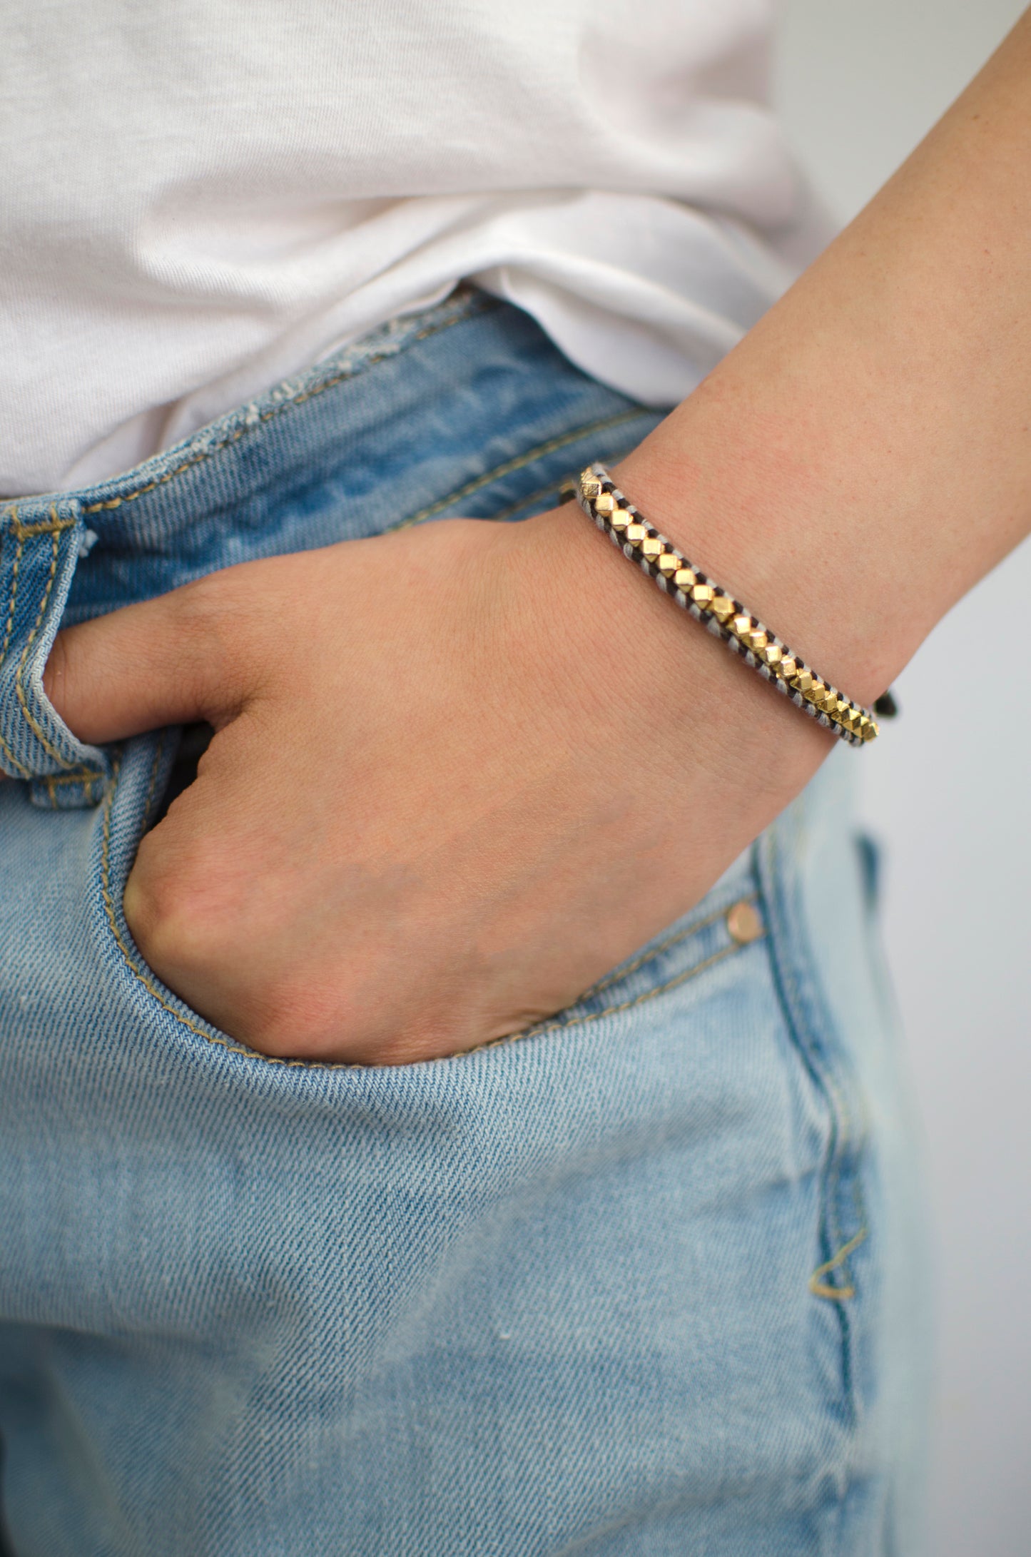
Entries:
{"label": "hand tucked into the jeans pocket, up to the bracelet", "polygon": [[572,504],[226,568],[64,631],[45,680],[86,741],[215,726],[126,920],[195,1010],[310,1059],[568,1004],[829,747]]}

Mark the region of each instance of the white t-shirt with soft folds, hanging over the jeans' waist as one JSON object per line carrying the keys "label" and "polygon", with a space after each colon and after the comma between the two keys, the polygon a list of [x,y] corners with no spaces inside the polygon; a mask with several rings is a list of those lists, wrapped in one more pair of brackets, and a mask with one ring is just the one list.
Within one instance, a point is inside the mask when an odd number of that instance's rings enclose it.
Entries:
{"label": "white t-shirt with soft folds, hanging over the jeans' waist", "polygon": [[125,470],[461,277],[682,399],[824,241],[769,0],[33,0],[0,494]]}

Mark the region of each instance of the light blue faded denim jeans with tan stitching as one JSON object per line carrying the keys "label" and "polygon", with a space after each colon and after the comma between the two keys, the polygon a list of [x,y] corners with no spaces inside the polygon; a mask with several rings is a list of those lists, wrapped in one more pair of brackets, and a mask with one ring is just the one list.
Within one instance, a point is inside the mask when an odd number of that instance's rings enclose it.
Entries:
{"label": "light blue faded denim jeans with tan stitching", "polygon": [[0,512],[17,1557],[916,1551],[927,1266],[861,757],[539,1028],[313,1065],[215,1031],[126,928],[174,732],[87,747],[42,691],[62,618],[525,517],[654,420],[463,290],[126,476]]}

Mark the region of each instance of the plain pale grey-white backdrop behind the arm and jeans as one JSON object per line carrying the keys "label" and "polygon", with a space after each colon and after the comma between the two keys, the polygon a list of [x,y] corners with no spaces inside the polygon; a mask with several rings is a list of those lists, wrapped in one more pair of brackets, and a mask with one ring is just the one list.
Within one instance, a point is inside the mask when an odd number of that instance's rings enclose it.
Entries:
{"label": "plain pale grey-white backdrop behind the arm and jeans", "polygon": [[[782,9],[788,134],[847,218],[1023,5]],[[933,1557],[1031,1557],[1029,620],[1025,545],[925,643],[897,682],[902,719],[858,757],[934,1194],[938,1269],[913,1271],[939,1328]]]}

